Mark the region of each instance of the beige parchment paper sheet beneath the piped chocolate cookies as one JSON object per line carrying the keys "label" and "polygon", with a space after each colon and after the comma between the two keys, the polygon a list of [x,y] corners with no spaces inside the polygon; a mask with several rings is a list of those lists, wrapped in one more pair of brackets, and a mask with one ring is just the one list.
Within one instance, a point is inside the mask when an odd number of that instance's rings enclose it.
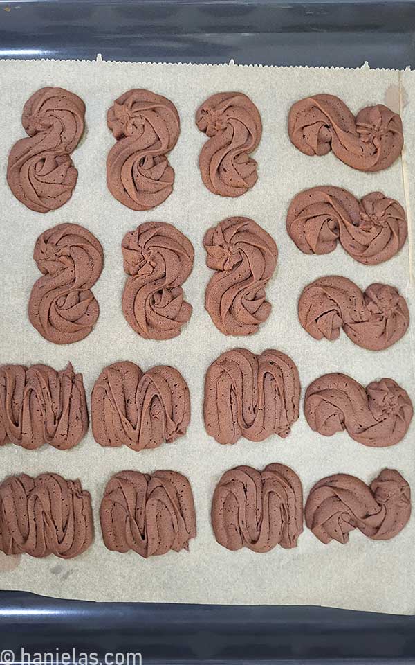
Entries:
{"label": "beige parchment paper sheet beneath the piped chocolate cookies", "polygon": [[[301,413],[284,441],[273,436],[263,443],[240,440],[228,447],[205,433],[202,420],[205,371],[220,353],[235,346],[246,346],[254,353],[273,347],[291,355],[299,369],[302,396],[317,376],[340,371],[362,384],[391,376],[415,400],[410,332],[396,345],[375,353],[358,348],[346,335],[333,344],[316,342],[299,325],[296,311],[304,285],[324,274],[342,274],[360,287],[385,281],[410,299],[409,243],[387,263],[368,267],[353,261],[340,247],[326,256],[301,254],[285,229],[286,209],[292,197],[318,184],[342,186],[359,197],[382,190],[407,205],[414,173],[410,155],[415,154],[412,76],[409,72],[369,67],[0,62],[0,107],[3,118],[7,118],[7,123],[3,122],[7,131],[0,135],[0,362],[44,362],[60,369],[71,361],[84,375],[88,397],[101,369],[111,362],[132,360],[142,369],[172,364],[187,380],[192,400],[187,435],[157,450],[136,453],[126,447],[103,449],[91,432],[67,452],[46,446],[30,452],[12,445],[3,447],[2,476],[55,471],[81,479],[93,499],[95,542],[84,555],[70,561],[2,557],[0,564],[8,570],[0,574],[1,588],[96,601],[315,604],[415,612],[415,518],[389,542],[372,542],[354,532],[347,546],[324,546],[305,529],[297,549],[275,547],[264,555],[220,547],[210,526],[214,487],[225,470],[239,464],[259,469],[275,461],[288,464],[302,479],[305,497],[315,481],[325,475],[347,472],[369,482],[385,467],[398,469],[415,491],[414,425],[398,445],[376,450],[359,445],[345,433],[324,438],[311,431]],[[20,124],[24,102],[44,85],[66,87],[82,97],[86,103],[86,132],[73,153],[79,176],[71,201],[42,216],[12,196],[6,184],[6,164],[11,145],[24,136]],[[105,115],[113,100],[132,87],[148,87],[167,96],[181,116],[181,136],[169,157],[176,173],[174,192],[162,206],[147,213],[122,206],[105,184],[105,159],[114,142]],[[206,139],[194,124],[194,112],[214,92],[230,89],[252,98],[264,125],[255,154],[259,180],[239,199],[221,199],[210,193],[201,182],[197,166]],[[333,154],[311,159],[296,150],[286,133],[288,109],[295,100],[317,92],[340,96],[355,113],[374,103],[387,103],[395,110],[402,106],[406,119],[405,169],[402,161],[397,161],[387,171],[365,174],[345,166]],[[259,332],[248,338],[221,335],[203,307],[205,285],[212,275],[205,265],[203,235],[212,224],[230,215],[255,219],[273,235],[279,248],[277,271],[267,288],[272,313]],[[175,224],[192,240],[195,249],[194,270],[184,285],[186,300],[194,308],[192,318],[179,337],[167,342],[138,337],[121,310],[125,279],[121,241],[124,233],[147,220]],[[89,337],[69,346],[46,342],[30,326],[26,311],[31,287],[39,276],[32,258],[35,240],[39,233],[61,222],[83,224],[104,248],[104,271],[93,287],[100,303],[100,318]],[[170,468],[190,479],[198,535],[190,543],[189,553],[170,552],[144,560],[132,552],[113,553],[104,547],[99,524],[104,486],[114,472],[130,468],[143,472]]]}

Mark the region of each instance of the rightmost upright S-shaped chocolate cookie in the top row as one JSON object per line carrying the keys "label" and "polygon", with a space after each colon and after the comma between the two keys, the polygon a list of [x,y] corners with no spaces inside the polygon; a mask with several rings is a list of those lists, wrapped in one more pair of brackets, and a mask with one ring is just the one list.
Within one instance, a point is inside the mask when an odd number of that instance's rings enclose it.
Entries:
{"label": "rightmost upright S-shaped chocolate cookie in the top row", "polygon": [[205,186],[220,196],[241,196],[258,179],[249,155],[259,145],[261,116],[241,92],[212,95],[197,109],[196,125],[209,136],[199,156]]}

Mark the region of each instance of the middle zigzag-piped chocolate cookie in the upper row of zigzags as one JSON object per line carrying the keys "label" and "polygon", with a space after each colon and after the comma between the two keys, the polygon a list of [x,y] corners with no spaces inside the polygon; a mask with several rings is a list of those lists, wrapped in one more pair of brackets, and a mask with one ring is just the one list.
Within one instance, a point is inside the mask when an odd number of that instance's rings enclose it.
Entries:
{"label": "middle zigzag-piped chocolate cookie in the upper row of zigzags", "polygon": [[103,446],[156,448],[186,433],[190,422],[187,383],[173,367],[145,374],[133,362],[116,362],[99,375],[91,396],[92,432]]}

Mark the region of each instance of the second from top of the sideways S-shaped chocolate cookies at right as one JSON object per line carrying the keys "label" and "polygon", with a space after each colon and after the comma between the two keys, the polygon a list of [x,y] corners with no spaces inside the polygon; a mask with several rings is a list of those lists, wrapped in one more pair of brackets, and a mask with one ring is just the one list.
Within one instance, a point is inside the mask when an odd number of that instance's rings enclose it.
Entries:
{"label": "second from top of the sideways S-shaped chocolate cookies at right", "polygon": [[387,261],[405,244],[403,207],[380,192],[360,201],[340,187],[313,187],[293,198],[286,219],[289,236],[304,254],[329,254],[340,241],[359,263]]}

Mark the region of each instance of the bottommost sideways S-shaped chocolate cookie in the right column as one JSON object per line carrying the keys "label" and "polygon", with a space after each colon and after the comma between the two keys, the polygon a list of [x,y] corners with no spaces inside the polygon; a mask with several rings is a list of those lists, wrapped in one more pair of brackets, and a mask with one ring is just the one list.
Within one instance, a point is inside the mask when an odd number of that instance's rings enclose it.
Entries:
{"label": "bottommost sideways S-shaped chocolate cookie in the right column", "polygon": [[324,544],[344,544],[359,529],[372,540],[389,540],[411,515],[411,490],[394,469],[384,469],[368,487],[355,476],[336,473],[318,481],[305,508],[306,525]]}

